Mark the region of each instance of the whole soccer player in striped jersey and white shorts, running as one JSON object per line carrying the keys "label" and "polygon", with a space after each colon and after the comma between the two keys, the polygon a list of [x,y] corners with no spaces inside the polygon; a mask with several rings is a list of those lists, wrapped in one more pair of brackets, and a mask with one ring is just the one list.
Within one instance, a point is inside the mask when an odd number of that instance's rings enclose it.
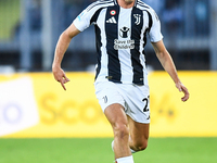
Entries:
{"label": "whole soccer player in striped jersey and white shorts, running", "polygon": [[52,71],[65,89],[69,82],[61,62],[71,39],[90,25],[95,27],[98,64],[95,95],[114,131],[113,150],[117,163],[133,163],[132,152],[148,146],[150,90],[145,68],[146,36],[165,71],[179,91],[189,99],[175,64],[166,50],[159,20],[141,0],[99,0],[85,9],[62,33]]}

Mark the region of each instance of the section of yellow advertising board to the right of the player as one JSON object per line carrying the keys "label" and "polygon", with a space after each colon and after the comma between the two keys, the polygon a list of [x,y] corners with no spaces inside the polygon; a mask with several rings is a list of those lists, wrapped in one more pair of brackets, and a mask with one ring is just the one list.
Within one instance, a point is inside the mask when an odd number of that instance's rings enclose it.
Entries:
{"label": "section of yellow advertising board to the right of the player", "polygon": [[151,136],[217,136],[217,73],[179,72],[190,92],[187,102],[166,73],[150,74]]}

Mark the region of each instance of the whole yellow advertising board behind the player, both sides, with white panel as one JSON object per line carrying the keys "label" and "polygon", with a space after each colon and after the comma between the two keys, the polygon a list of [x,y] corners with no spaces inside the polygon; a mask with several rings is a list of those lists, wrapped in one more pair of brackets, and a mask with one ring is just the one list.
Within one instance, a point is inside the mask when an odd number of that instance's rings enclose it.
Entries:
{"label": "whole yellow advertising board behind the player, both sides, with white panel", "polygon": [[[51,73],[0,75],[0,137],[112,137],[94,95],[94,75],[66,73],[66,91]],[[152,137],[217,136],[217,73],[179,72],[181,101],[165,72],[149,75]]]}

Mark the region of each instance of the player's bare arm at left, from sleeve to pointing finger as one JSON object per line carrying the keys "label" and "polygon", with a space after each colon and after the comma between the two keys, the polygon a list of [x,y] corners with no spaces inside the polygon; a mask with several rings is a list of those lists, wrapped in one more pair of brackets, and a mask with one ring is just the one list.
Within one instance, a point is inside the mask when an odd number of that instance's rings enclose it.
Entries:
{"label": "player's bare arm at left, from sleeve to pointing finger", "polygon": [[61,68],[61,62],[63,60],[63,57],[71,43],[71,40],[73,37],[78,35],[80,32],[75,27],[74,24],[72,24],[66,30],[64,30],[56,43],[55,47],[55,54],[54,60],[52,64],[52,72],[55,80],[60,82],[63,89],[66,90],[64,84],[69,82],[69,79],[66,77],[64,71]]}

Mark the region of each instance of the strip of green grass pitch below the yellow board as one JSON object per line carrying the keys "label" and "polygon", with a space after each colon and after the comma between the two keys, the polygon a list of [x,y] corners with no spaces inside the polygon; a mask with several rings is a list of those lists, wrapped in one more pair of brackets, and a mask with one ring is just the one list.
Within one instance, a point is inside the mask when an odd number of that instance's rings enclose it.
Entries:
{"label": "strip of green grass pitch below the yellow board", "polygon": [[[112,138],[0,139],[0,163],[113,163]],[[217,138],[150,138],[135,163],[216,163]]]}

